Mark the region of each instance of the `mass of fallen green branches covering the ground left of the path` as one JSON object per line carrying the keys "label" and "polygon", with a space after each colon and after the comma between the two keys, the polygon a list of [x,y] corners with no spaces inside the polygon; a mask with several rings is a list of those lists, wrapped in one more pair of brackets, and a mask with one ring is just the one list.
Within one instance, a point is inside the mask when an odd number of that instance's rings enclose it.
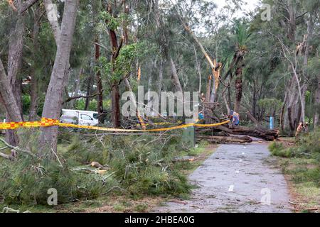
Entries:
{"label": "mass of fallen green branches covering the ground left of the path", "polygon": [[[38,153],[38,133],[21,133],[28,136],[20,146]],[[58,204],[105,194],[184,196],[191,190],[186,176],[171,162],[185,147],[181,136],[72,134],[61,131],[59,160],[22,155],[14,162],[1,159],[0,206],[46,205],[52,188],[57,189]],[[82,171],[90,170],[91,162],[107,166],[107,172]]]}

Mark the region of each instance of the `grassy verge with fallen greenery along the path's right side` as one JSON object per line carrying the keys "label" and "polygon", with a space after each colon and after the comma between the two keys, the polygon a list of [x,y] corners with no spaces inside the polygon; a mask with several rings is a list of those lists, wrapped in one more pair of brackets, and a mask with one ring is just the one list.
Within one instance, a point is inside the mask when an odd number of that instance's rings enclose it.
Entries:
{"label": "grassy verge with fallen greenery along the path's right side", "polygon": [[298,140],[286,138],[270,145],[277,156],[297,212],[320,211],[319,131]]}

